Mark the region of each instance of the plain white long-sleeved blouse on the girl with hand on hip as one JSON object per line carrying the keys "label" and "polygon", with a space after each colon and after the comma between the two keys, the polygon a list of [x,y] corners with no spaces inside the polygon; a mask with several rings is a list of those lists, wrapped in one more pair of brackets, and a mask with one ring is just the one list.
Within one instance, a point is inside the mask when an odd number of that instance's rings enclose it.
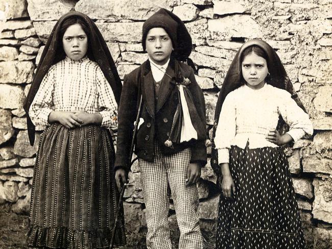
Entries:
{"label": "plain white long-sleeved blouse on the girl with hand on hip", "polygon": [[277,147],[266,140],[266,136],[277,127],[279,115],[290,126],[287,133],[294,141],[305,134],[313,134],[309,115],[286,90],[265,84],[260,89],[244,85],[230,92],[223,103],[216,130],[218,163],[229,162],[231,145],[245,148],[249,141],[249,148]]}

